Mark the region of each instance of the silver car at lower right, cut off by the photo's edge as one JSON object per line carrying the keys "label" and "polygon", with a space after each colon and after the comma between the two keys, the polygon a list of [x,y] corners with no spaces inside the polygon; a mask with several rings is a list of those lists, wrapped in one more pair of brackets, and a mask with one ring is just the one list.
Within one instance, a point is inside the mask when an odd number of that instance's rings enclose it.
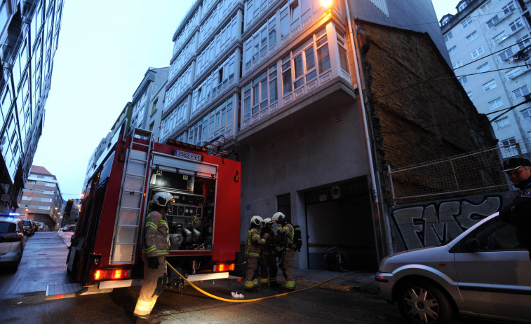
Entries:
{"label": "silver car at lower right, cut off by the photo's edge", "polygon": [[498,213],[444,246],[389,255],[375,279],[408,323],[456,314],[531,323],[530,255]]}

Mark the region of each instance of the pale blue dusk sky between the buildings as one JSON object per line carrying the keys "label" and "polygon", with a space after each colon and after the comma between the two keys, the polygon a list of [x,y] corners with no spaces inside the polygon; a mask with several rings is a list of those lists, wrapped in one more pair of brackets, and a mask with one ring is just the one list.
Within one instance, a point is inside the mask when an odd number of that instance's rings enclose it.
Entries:
{"label": "pale blue dusk sky between the buildings", "polygon": [[[434,0],[438,20],[455,14],[457,2]],[[173,33],[192,3],[64,1],[34,165],[57,176],[65,199],[80,197],[90,155],[131,101],[147,69],[170,65]]]}

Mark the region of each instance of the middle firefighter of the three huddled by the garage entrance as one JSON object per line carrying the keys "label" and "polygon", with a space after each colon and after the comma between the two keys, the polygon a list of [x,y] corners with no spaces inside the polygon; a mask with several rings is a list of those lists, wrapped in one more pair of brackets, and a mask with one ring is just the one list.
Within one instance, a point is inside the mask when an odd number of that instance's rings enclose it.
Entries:
{"label": "middle firefighter of the three huddled by the garage entrance", "polygon": [[264,245],[262,245],[262,254],[260,255],[260,282],[262,288],[267,287],[269,281],[269,287],[278,288],[280,283],[276,282],[276,274],[278,269],[276,268],[276,245],[275,245],[275,233],[271,229],[273,226],[273,220],[271,218],[265,218],[262,222],[263,235],[269,234]]}

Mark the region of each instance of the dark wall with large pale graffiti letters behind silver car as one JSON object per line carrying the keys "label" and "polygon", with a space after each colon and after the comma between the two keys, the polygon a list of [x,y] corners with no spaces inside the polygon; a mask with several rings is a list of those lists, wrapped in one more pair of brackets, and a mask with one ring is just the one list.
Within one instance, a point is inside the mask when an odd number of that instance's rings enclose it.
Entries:
{"label": "dark wall with large pale graffiti letters behind silver car", "polygon": [[396,207],[391,219],[406,250],[438,246],[455,239],[479,220],[502,207],[502,195],[486,195],[474,203],[466,198]]}

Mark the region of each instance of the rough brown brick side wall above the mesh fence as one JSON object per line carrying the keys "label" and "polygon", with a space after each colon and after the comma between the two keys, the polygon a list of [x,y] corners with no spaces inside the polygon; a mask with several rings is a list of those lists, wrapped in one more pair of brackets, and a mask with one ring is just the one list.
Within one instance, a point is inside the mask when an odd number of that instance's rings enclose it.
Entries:
{"label": "rough brown brick side wall above the mesh fence", "polygon": [[364,32],[358,37],[364,88],[382,173],[384,164],[396,169],[496,144],[488,118],[477,113],[428,34],[356,24]]}

